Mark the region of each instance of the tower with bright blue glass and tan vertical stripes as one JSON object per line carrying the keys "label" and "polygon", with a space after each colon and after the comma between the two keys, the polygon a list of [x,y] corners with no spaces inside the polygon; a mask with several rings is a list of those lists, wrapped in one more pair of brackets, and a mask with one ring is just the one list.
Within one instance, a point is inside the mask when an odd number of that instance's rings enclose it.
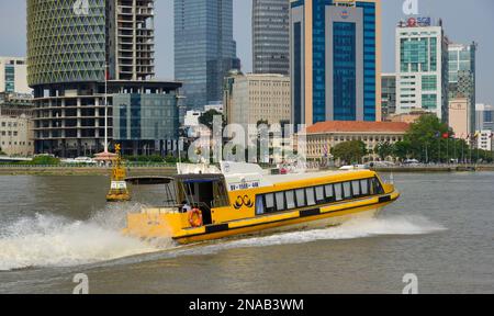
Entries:
{"label": "tower with bright blue glass and tan vertical stripes", "polygon": [[381,119],[381,1],[291,1],[292,122]]}

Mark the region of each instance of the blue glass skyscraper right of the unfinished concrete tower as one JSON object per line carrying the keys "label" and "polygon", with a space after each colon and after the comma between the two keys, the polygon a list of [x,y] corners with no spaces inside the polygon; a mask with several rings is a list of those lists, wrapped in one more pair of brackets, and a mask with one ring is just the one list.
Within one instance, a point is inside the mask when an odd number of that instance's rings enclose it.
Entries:
{"label": "blue glass skyscraper right of the unfinished concrete tower", "polygon": [[224,78],[239,68],[232,0],[175,0],[175,78],[188,108],[221,101]]}

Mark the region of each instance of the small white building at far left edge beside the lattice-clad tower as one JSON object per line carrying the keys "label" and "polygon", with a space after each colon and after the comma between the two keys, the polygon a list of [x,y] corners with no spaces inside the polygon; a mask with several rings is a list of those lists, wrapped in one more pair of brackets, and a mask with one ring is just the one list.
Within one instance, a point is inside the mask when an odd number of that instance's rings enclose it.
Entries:
{"label": "small white building at far left edge beside the lattice-clad tower", "polygon": [[25,58],[0,57],[0,93],[31,93]]}

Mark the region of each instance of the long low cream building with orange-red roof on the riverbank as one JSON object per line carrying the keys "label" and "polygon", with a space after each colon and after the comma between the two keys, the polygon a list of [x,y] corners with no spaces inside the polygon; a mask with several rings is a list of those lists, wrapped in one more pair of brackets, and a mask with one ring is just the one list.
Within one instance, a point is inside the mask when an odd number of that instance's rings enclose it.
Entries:
{"label": "long low cream building with orange-red roof on the riverbank", "polygon": [[[307,159],[330,158],[332,148],[345,142],[361,140],[368,150],[380,143],[402,142],[408,131],[406,123],[393,122],[322,122],[307,127]],[[369,157],[375,158],[375,157]]]}

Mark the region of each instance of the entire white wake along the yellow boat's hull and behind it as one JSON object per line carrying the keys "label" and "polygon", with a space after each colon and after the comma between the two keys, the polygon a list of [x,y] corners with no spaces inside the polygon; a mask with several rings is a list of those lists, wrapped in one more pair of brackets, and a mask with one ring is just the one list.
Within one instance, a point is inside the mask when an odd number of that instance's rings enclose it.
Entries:
{"label": "entire white wake along the yellow boat's hull and behind it", "polygon": [[[120,205],[121,206],[121,205]],[[87,222],[37,214],[2,227],[0,233],[0,271],[30,268],[75,267],[91,263],[128,264],[180,256],[202,256],[232,248],[254,248],[304,244],[317,240],[356,239],[385,235],[423,235],[445,228],[422,216],[356,218],[341,226],[304,232],[209,241],[178,247],[171,239],[145,242],[123,236],[127,212],[111,208],[94,214]],[[146,256],[143,256],[146,255]]]}

